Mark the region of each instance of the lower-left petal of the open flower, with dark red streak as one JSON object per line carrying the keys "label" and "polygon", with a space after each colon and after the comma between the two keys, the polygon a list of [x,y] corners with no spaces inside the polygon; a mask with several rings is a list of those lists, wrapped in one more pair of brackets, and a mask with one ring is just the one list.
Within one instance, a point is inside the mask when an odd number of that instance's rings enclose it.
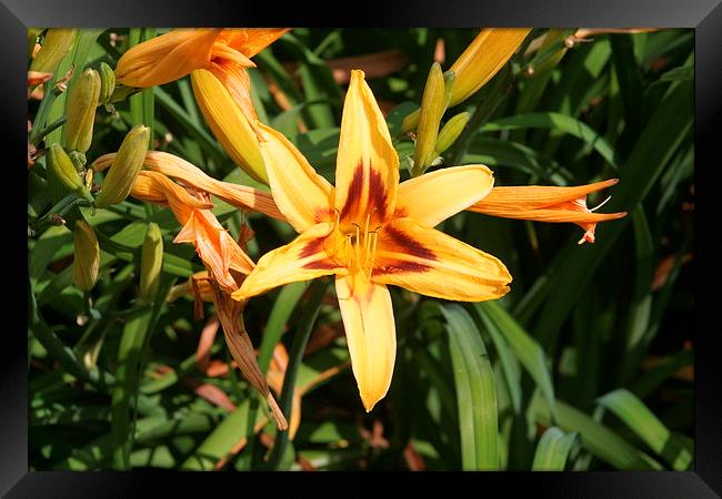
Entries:
{"label": "lower-left petal of the open flower, with dark red streak", "polygon": [[314,225],[285,246],[263,255],[233,298],[250,298],[283,284],[345,273],[324,249],[332,230],[333,224]]}

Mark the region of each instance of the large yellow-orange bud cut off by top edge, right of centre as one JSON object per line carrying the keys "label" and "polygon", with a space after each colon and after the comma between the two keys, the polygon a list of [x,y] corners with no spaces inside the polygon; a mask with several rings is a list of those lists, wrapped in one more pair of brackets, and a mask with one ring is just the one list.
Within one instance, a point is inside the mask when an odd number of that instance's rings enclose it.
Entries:
{"label": "large yellow-orange bud cut off by top edge, right of centre", "polygon": [[483,29],[449,68],[455,73],[449,106],[455,105],[481,89],[519,49],[529,28]]}

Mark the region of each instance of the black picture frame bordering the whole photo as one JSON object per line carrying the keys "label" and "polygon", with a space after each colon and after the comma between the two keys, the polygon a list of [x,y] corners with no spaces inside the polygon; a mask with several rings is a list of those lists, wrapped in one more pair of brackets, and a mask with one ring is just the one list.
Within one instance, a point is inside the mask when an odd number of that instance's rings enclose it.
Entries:
{"label": "black picture frame bordering the whole photo", "polygon": [[[26,30],[28,27],[181,27],[181,26],[355,26],[355,27],[455,27],[472,28],[478,26],[494,27],[659,27],[695,29],[695,149],[698,163],[710,163],[719,167],[719,139],[714,132],[722,122],[722,0],[504,0],[503,2],[484,2],[481,0],[414,0],[413,2],[393,4],[389,0],[367,1],[362,8],[351,4],[297,2],[282,8],[271,2],[250,3],[232,0],[174,0],[166,1],[98,1],[98,0],[2,0],[0,4],[0,32],[3,42],[0,53],[3,74],[0,77],[0,112],[6,119],[0,123],[8,139],[12,161],[8,161],[6,172],[22,172],[20,164],[24,161],[24,123],[27,104],[23,98],[26,61]],[[716,147],[713,146],[716,140]],[[716,161],[714,161],[716,160]],[[14,166],[13,166],[14,165]],[[706,171],[708,174],[710,170]],[[20,175],[18,175],[20,176]],[[702,228],[700,221],[700,169],[695,169],[695,225]],[[21,182],[18,179],[18,184]],[[10,182],[14,182],[12,179]],[[706,187],[706,186],[705,186]],[[22,196],[20,190],[18,197]],[[6,198],[7,197],[7,192]],[[10,202],[12,203],[12,202]],[[10,205],[6,204],[6,206]],[[23,201],[12,203],[22,207]],[[20,212],[20,208],[18,208]],[[6,221],[13,221],[10,240],[23,241],[24,214],[11,212]],[[14,215],[14,216],[13,216]],[[701,230],[696,231],[702,234]],[[23,247],[20,243],[18,253]],[[10,255],[9,255],[10,256]],[[12,255],[18,261],[20,255]],[[694,266],[700,267],[701,246],[696,246]],[[706,258],[706,257],[705,257]],[[14,261],[14,259],[13,259]],[[720,275],[709,268],[705,259],[706,275]],[[27,277],[22,276],[27,283]],[[8,281],[8,279],[6,279]],[[20,279],[19,279],[20,281]],[[12,284],[12,282],[10,281]],[[713,322],[701,319],[700,297],[702,283],[698,281],[694,319],[695,332],[695,456],[694,471],[675,472],[558,472],[558,473],[395,473],[375,475],[369,480],[353,480],[354,476],[338,473],[315,478],[323,482],[315,485],[320,490],[335,490],[348,495],[343,487],[349,479],[354,481],[353,492],[374,493],[375,479],[391,478],[401,487],[421,486],[425,490],[448,491],[441,479],[452,478],[477,485],[479,492],[487,487],[503,487],[504,491],[532,490],[532,493],[552,497],[720,497],[722,493],[722,398],[714,385],[720,379],[720,361],[715,358],[719,349],[714,348],[714,337],[719,329],[704,327]],[[22,293],[7,286],[10,297],[20,301]],[[10,305],[10,306],[8,306]],[[17,304],[18,309],[21,304]],[[708,307],[709,310],[709,307]],[[13,314],[12,303],[6,304],[4,317]],[[710,317],[712,318],[712,317]],[[27,383],[27,340],[16,328],[3,332],[3,345],[0,348],[0,400],[2,418],[0,424],[0,492],[7,497],[129,497],[142,493],[154,481],[162,483],[164,495],[178,492],[192,493],[232,487],[240,493],[249,493],[249,480],[268,487],[261,493],[275,495],[284,480],[278,475],[244,473],[183,473],[167,471],[148,472],[33,472],[28,473],[28,383]],[[302,475],[305,481],[313,481],[318,475]],[[288,476],[285,476],[288,477]],[[230,481],[233,480],[233,481]],[[328,483],[328,481],[337,483]],[[293,479],[295,481],[295,479]],[[445,481],[445,480],[444,480]],[[331,487],[328,487],[328,486]],[[339,486],[339,488],[335,488]],[[212,488],[211,488],[212,487]],[[420,487],[419,487],[420,488]],[[10,490],[12,489],[12,490]],[[230,490],[233,490],[230,489]],[[379,490],[380,491],[380,490]],[[715,492],[716,491],[716,492]],[[297,489],[298,493],[298,489]],[[334,493],[334,495],[335,495]]]}

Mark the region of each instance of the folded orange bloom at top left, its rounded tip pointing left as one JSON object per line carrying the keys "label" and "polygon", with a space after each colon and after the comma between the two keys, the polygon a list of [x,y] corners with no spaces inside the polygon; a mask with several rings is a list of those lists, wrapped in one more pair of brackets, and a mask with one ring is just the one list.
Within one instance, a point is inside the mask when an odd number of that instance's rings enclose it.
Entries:
{"label": "folded orange bloom at top left, its rounded tip pointing left", "polygon": [[220,29],[172,30],[144,41],[118,61],[116,81],[128,86],[153,86],[168,83],[211,60],[211,50]]}

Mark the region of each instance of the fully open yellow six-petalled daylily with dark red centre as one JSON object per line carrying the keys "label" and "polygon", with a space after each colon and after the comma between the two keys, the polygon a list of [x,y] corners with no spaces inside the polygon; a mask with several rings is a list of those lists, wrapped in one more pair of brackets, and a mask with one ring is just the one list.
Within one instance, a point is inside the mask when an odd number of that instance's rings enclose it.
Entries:
{"label": "fully open yellow six-petalled daylily with dark red centre", "polygon": [[463,302],[509,292],[503,263],[432,228],[483,198],[492,173],[457,166],[399,184],[399,156],[358,70],[343,106],[335,187],[281,133],[259,128],[273,198],[300,236],[263,255],[232,296],[335,275],[351,366],[370,411],[385,396],[395,360],[387,285]]}

